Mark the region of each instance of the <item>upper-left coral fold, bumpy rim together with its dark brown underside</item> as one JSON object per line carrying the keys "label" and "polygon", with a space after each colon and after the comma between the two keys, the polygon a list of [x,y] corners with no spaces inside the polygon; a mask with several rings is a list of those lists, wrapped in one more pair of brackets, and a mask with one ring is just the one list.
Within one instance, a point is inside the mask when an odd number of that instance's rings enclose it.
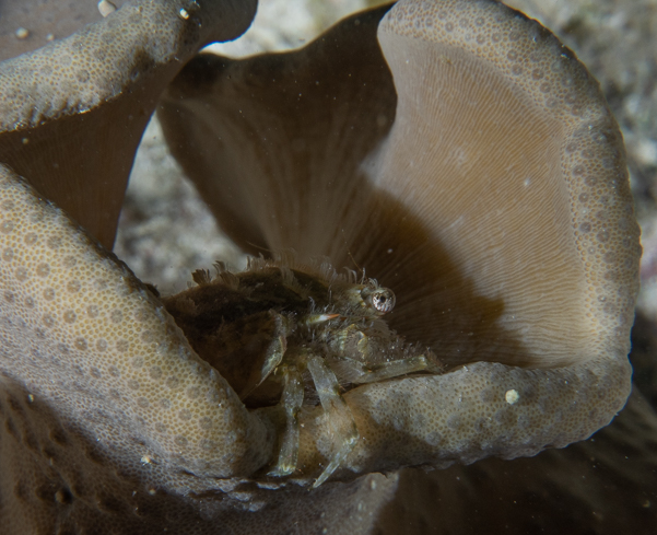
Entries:
{"label": "upper-left coral fold, bumpy rim together with its dark brown underside", "polygon": [[2,61],[0,162],[112,248],[160,93],[201,46],[244,32],[255,3],[130,2],[66,39]]}

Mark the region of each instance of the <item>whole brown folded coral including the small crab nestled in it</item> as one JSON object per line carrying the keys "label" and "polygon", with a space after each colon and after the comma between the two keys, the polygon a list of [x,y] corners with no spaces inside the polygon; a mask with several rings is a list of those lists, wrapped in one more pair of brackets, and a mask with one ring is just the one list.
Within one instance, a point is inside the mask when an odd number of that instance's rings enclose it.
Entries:
{"label": "whole brown folded coral including the small crab nestled in it", "polygon": [[[255,8],[127,2],[0,63],[3,533],[649,533],[640,230],[598,82],[493,0],[196,54]],[[155,108],[273,259],[161,298],[109,252]]]}

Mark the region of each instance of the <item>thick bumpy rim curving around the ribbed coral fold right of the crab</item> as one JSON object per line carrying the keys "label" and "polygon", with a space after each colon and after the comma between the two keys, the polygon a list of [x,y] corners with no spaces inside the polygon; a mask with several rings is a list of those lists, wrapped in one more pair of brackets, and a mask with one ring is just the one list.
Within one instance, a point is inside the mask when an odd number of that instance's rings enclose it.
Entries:
{"label": "thick bumpy rim curving around the ribbed coral fold right of the crab", "polygon": [[[411,126],[404,121],[412,115],[408,108],[418,91],[406,80],[417,83],[409,69],[425,72],[422,61],[427,54],[433,61],[447,63],[448,70],[479,70],[489,79],[501,77],[511,91],[520,93],[547,116],[543,120],[559,123],[556,146],[563,186],[551,202],[565,195],[570,213],[565,236],[554,251],[570,247],[577,252],[572,261],[580,282],[575,288],[585,303],[586,318],[577,322],[580,332],[568,333],[583,339],[579,353],[553,358],[552,364],[549,344],[541,349],[528,342],[528,349],[536,351],[529,368],[538,369],[474,363],[442,376],[368,385],[349,393],[348,403],[363,419],[359,427],[367,429],[367,440],[352,456],[354,467],[373,468],[367,461],[372,458],[397,465],[399,458],[406,460],[401,464],[417,464],[422,458],[472,462],[493,453],[505,457],[533,455],[545,445],[562,447],[589,435],[609,422],[629,394],[631,368],[625,356],[641,253],[621,135],[597,82],[547,30],[492,2],[401,2],[379,25],[379,40],[398,90],[402,88],[386,148],[404,147],[401,137],[412,136]],[[494,72],[488,74],[490,69]],[[433,105],[439,106],[439,98],[432,97]],[[431,106],[430,102],[424,109]],[[417,116],[412,120],[417,124]],[[431,132],[431,127],[421,126],[420,130]],[[399,162],[404,155],[387,155],[385,163],[391,158]],[[422,156],[413,161],[413,166],[427,172],[422,165]],[[391,164],[383,168],[375,179],[403,198],[406,186],[395,176],[399,167]],[[407,179],[414,176],[412,167],[404,171]],[[511,189],[505,195],[517,194]],[[424,190],[422,198],[430,197]],[[422,200],[413,206],[419,212],[431,207]],[[558,213],[559,207],[552,210]],[[513,243],[514,235],[509,233],[506,240]],[[494,268],[489,265],[488,269]],[[494,281],[505,277],[481,272]],[[509,306],[514,299],[521,301],[525,292],[533,296],[531,304],[539,315],[550,314],[525,283],[517,282],[521,290],[517,292],[505,282]],[[552,283],[560,283],[560,274]],[[520,295],[515,298],[514,291]],[[566,333],[570,326],[561,325],[562,329]],[[554,335],[559,338],[564,333]],[[542,365],[541,351],[545,358]],[[570,365],[564,367],[566,363]],[[558,368],[541,369],[544,365]]]}

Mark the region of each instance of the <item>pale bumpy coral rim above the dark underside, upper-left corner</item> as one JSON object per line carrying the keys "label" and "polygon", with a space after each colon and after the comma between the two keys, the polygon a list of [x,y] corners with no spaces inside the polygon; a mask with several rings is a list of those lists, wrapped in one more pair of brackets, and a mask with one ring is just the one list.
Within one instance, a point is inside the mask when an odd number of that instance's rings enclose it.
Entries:
{"label": "pale bumpy coral rim above the dark underside, upper-left corner", "polygon": [[[203,2],[200,13],[200,5],[187,0],[127,3],[67,39],[3,61],[0,128],[24,128],[64,111],[89,111],[118,96],[127,84],[141,82],[156,67],[196,51],[203,38],[235,38],[248,20],[235,28],[227,19],[237,11],[233,3]],[[188,19],[175,15],[181,9],[188,11]],[[227,20],[212,25],[218,15]]]}

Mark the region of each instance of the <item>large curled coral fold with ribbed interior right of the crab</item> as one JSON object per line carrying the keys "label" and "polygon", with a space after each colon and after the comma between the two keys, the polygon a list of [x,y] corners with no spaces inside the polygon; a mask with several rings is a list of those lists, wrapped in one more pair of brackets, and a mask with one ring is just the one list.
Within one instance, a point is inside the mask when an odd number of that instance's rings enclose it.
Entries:
{"label": "large curled coral fold with ribbed interior right of the crab", "polygon": [[[385,12],[298,51],[195,58],[160,109],[172,152],[237,243],[353,258],[395,290],[391,325],[453,364],[347,393],[348,468],[585,439],[631,385],[641,248],[618,125],[513,10]],[[326,426],[304,422],[302,466],[328,456]]]}

